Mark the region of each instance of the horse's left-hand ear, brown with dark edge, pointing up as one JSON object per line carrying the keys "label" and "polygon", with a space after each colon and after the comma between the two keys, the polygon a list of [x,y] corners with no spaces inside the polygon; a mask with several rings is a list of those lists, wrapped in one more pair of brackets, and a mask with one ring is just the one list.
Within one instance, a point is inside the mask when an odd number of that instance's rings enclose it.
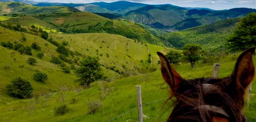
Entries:
{"label": "horse's left-hand ear, brown with dark edge, pointing up", "polygon": [[163,79],[170,86],[172,93],[175,93],[182,81],[181,76],[169,64],[168,59],[161,52],[157,52],[161,61],[161,72]]}

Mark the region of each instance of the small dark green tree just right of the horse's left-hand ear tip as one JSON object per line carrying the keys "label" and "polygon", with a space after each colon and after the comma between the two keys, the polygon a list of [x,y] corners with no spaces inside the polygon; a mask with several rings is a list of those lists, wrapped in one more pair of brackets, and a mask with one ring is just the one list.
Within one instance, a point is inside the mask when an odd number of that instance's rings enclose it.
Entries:
{"label": "small dark green tree just right of the horse's left-hand ear tip", "polygon": [[180,62],[181,53],[178,53],[177,51],[170,51],[165,56],[171,64],[178,64]]}

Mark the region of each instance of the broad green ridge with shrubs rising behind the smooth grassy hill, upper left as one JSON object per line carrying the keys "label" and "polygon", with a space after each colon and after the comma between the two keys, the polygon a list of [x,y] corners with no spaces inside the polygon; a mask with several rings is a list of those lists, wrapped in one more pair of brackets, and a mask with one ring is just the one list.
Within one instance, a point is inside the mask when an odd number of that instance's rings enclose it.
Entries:
{"label": "broad green ridge with shrubs rising behind the smooth grassy hill, upper left", "polygon": [[111,20],[88,12],[28,14],[27,16],[16,18],[4,16],[0,20],[5,20],[3,23],[11,22],[26,26],[34,24],[37,27],[47,29],[48,32],[52,30],[52,32],[62,33],[119,34],[140,42],[164,46],[163,42],[149,31],[126,20]]}

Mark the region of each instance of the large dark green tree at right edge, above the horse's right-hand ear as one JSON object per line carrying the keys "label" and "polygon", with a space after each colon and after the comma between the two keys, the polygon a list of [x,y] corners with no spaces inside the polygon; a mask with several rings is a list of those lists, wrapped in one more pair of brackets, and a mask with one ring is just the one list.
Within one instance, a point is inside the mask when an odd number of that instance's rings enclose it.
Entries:
{"label": "large dark green tree at right edge, above the horse's right-hand ear", "polygon": [[232,51],[242,51],[256,46],[256,13],[249,13],[242,18],[237,29],[227,39],[227,46]]}

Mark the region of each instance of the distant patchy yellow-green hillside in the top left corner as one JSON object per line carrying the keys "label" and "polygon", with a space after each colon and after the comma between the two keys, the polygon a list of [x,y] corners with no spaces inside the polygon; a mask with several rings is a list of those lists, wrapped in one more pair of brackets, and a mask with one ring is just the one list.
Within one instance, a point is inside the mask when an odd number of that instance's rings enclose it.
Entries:
{"label": "distant patchy yellow-green hillside in the top left corner", "polygon": [[37,7],[18,2],[0,2],[0,15],[3,14],[35,14],[35,13],[53,13],[53,12],[77,12],[79,10],[71,7],[51,6]]}

